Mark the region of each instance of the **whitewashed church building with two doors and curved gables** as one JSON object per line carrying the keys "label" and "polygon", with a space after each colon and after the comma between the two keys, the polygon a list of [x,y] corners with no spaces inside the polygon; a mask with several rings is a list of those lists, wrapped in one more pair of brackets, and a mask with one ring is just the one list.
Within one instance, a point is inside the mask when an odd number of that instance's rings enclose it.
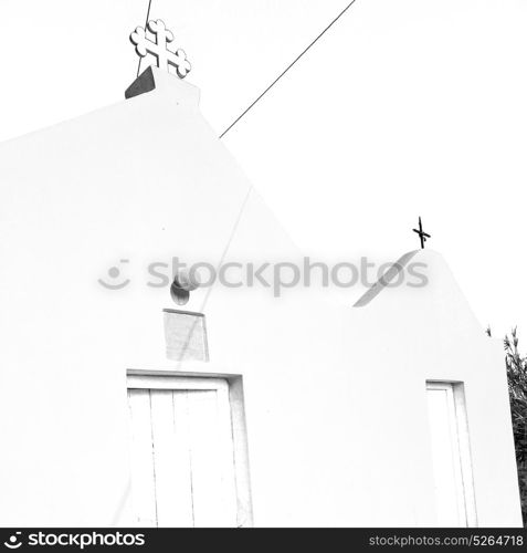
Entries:
{"label": "whitewashed church building with two doors and curved gables", "polygon": [[194,86],[126,95],[0,145],[0,524],[521,525],[502,344],[443,258],[355,305],[170,286],[303,253]]}

